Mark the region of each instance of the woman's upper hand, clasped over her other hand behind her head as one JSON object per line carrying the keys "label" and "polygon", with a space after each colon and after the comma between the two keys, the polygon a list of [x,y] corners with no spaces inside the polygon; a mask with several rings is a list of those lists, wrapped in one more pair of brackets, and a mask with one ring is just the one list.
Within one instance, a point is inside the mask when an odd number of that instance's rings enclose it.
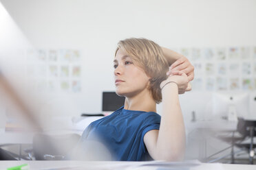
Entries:
{"label": "woman's upper hand, clasped over her other hand behind her head", "polygon": [[194,66],[184,56],[173,62],[169,67],[169,75],[179,75],[180,73],[185,73],[189,81],[194,79]]}

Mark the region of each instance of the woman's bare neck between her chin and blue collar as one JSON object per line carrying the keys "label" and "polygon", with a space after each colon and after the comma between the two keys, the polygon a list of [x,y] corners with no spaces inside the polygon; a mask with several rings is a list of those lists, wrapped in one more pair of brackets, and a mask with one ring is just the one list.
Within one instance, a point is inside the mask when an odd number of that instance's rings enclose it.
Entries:
{"label": "woman's bare neck between her chin and blue collar", "polygon": [[133,97],[126,97],[124,108],[126,110],[156,112],[156,101],[151,97],[149,90],[143,90]]}

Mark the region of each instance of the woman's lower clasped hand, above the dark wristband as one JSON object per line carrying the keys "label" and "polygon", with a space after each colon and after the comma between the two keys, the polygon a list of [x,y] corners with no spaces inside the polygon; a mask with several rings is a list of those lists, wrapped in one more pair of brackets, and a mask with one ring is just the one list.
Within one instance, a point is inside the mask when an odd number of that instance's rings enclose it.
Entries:
{"label": "woman's lower clasped hand, above the dark wristband", "polygon": [[169,72],[167,72],[167,75],[169,75],[167,80],[164,80],[160,84],[160,88],[161,89],[168,82],[175,82],[178,85],[178,92],[179,92],[179,94],[183,94],[186,91],[191,90],[191,84],[189,84],[189,77],[185,73],[178,72],[176,75],[172,75]]}

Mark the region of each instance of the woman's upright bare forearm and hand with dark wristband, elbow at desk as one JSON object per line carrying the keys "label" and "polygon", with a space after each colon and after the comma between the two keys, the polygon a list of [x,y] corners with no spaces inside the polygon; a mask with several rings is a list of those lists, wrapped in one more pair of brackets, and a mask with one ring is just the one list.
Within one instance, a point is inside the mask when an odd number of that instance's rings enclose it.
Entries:
{"label": "woman's upright bare forearm and hand with dark wristband, elbow at desk", "polygon": [[171,75],[164,80],[162,88],[162,115],[159,130],[151,130],[144,142],[155,160],[181,160],[185,151],[185,130],[178,89],[186,89],[189,79],[185,73]]}

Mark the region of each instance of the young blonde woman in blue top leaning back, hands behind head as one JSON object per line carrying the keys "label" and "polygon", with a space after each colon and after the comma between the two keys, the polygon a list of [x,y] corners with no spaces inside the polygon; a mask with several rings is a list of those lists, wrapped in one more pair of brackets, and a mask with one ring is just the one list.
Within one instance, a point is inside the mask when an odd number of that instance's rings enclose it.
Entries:
{"label": "young blonde woman in blue top leaning back, hands behind head", "polygon": [[[125,104],[87,127],[81,150],[88,151],[88,141],[97,141],[107,147],[111,160],[181,160],[185,132],[178,94],[191,90],[189,60],[151,40],[129,38],[118,42],[114,78],[116,94],[125,97]],[[160,117],[156,104],[161,101]],[[98,148],[90,145],[89,150]]]}

